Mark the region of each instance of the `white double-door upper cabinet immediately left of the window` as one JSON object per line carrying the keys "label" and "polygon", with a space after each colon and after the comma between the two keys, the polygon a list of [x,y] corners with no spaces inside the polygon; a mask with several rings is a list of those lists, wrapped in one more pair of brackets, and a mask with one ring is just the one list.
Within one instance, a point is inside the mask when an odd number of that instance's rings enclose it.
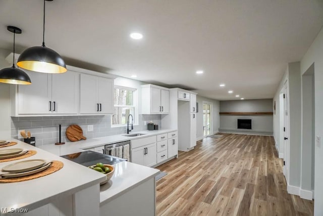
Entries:
{"label": "white double-door upper cabinet immediately left of the window", "polygon": [[80,114],[113,113],[114,80],[81,74]]}

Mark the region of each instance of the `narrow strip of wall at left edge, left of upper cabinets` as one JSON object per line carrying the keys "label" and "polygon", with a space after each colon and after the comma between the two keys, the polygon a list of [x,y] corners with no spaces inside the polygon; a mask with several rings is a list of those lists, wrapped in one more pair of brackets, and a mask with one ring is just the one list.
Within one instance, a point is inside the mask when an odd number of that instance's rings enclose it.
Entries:
{"label": "narrow strip of wall at left edge, left of upper cabinets", "polygon": [[[12,65],[5,58],[10,51],[0,49],[0,70]],[[11,120],[10,120],[10,84],[0,83],[0,139],[10,138]]]}

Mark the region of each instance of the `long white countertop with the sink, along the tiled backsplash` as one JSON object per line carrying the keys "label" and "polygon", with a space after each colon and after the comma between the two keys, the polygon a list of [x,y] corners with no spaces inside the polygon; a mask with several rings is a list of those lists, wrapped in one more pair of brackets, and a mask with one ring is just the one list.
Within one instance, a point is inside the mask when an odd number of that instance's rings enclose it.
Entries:
{"label": "long white countertop with the sink, along the tiled backsplash", "polygon": [[159,129],[155,131],[140,131],[140,132],[134,132],[130,134],[145,134],[139,137],[126,137],[123,136],[125,134],[120,135],[114,135],[114,136],[107,136],[107,137],[99,137],[99,138],[93,138],[93,139],[87,139],[87,140],[80,140],[77,142],[66,142],[64,145],[43,145],[39,146],[39,148],[48,151],[50,153],[56,154],[56,155],[66,155],[66,154],[73,154],[76,152],[80,152],[83,149],[90,149],[99,147],[102,145],[112,144],[112,143],[118,143],[122,141],[127,140],[136,140],[136,139],[142,139],[145,137],[155,136],[159,134],[166,134],[170,132],[177,131],[176,129]]}

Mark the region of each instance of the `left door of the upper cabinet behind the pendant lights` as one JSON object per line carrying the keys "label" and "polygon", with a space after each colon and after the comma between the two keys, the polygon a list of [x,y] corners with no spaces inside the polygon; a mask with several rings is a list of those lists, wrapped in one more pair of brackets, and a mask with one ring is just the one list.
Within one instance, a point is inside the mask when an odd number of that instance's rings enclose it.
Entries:
{"label": "left door of the upper cabinet behind the pendant lights", "polygon": [[18,114],[50,114],[51,74],[26,72],[31,85],[18,85]]}

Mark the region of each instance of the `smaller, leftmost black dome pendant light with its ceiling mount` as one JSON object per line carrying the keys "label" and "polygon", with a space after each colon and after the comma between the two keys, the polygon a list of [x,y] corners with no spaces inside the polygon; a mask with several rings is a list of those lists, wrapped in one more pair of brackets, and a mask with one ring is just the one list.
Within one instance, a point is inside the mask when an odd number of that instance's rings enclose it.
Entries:
{"label": "smaller, leftmost black dome pendant light with its ceiling mount", "polygon": [[12,67],[0,70],[0,82],[24,85],[31,84],[28,74],[15,67],[15,36],[16,34],[21,34],[21,29],[15,26],[8,26],[7,29],[14,33],[14,60]]}

